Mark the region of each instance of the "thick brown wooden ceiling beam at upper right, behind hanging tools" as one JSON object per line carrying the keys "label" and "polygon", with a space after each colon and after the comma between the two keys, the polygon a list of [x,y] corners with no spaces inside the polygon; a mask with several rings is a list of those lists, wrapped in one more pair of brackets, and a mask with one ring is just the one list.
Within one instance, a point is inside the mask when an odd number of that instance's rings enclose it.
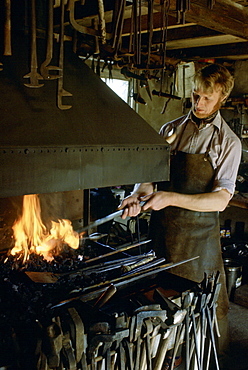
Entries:
{"label": "thick brown wooden ceiling beam at upper right, behind hanging tools", "polygon": [[[161,29],[163,22],[161,16],[161,0],[154,0],[153,14],[153,30]],[[214,0],[212,0],[214,1]],[[141,10],[141,32],[146,32],[148,29],[148,2],[142,3]],[[123,36],[130,34],[131,29],[131,9],[132,6],[127,6],[124,16]],[[186,24],[177,23],[177,0],[170,0],[170,9],[168,15],[168,28],[184,27],[187,23],[198,24],[212,30],[235,35],[248,39],[248,7],[244,7],[235,3],[232,0],[216,0],[213,9],[207,6],[206,0],[194,0],[190,3],[190,10],[185,13]],[[105,12],[105,21],[107,28],[112,22],[112,11]],[[78,20],[79,24],[90,27],[92,18],[97,15],[92,15]]]}

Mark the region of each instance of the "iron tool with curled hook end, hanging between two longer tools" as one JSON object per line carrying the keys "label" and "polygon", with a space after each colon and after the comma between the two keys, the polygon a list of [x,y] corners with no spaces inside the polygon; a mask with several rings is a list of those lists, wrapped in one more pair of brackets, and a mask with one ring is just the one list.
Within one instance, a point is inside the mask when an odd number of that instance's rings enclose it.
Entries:
{"label": "iron tool with curled hook end, hanging between two longer tools", "polygon": [[47,50],[46,59],[40,66],[40,73],[44,80],[53,80],[59,78],[59,75],[50,74],[49,72],[59,71],[57,66],[49,66],[53,56],[53,0],[48,1],[48,29],[47,29]]}

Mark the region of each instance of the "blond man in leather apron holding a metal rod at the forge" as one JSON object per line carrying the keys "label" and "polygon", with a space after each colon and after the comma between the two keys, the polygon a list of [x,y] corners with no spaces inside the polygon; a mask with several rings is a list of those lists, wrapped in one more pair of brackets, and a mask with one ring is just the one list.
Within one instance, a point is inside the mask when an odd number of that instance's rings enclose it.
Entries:
{"label": "blond man in leather apron holding a metal rod at the forge", "polygon": [[220,271],[220,352],[226,339],[228,296],[219,212],[234,194],[241,159],[241,142],[222,118],[220,108],[233,85],[233,77],[222,65],[209,64],[196,72],[190,112],[160,130],[171,144],[170,181],[136,184],[120,206],[126,207],[123,218],[133,217],[141,211],[139,202],[147,201],[143,209],[153,210],[150,229],[158,256],[165,256],[168,262],[200,256],[172,269],[173,273],[201,282],[204,272]]}

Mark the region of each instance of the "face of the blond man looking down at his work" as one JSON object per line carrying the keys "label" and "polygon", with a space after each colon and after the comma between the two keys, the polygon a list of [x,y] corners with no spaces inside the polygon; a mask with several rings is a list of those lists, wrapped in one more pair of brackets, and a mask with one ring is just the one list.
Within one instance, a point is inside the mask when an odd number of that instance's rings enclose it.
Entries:
{"label": "face of the blond man looking down at his work", "polygon": [[216,86],[212,93],[195,88],[192,92],[193,112],[200,119],[207,118],[221,107],[224,99],[220,86]]}

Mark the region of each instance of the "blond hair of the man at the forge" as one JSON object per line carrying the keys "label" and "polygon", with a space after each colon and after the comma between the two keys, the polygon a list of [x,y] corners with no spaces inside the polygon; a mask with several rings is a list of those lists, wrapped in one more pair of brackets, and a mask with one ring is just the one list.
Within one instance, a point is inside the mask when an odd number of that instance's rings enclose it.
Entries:
{"label": "blond hair of the man at the forge", "polygon": [[224,97],[230,95],[234,86],[234,78],[226,67],[220,64],[208,64],[195,73],[194,88],[201,88],[212,94],[216,85],[220,85]]}

